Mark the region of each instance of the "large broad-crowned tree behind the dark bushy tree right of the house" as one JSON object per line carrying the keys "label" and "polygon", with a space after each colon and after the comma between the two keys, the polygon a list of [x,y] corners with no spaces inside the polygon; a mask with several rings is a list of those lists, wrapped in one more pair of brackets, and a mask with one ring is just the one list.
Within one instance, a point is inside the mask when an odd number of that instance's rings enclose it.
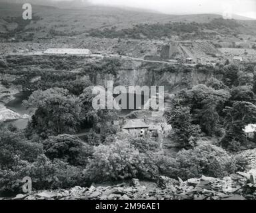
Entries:
{"label": "large broad-crowned tree behind the dark bushy tree right of the house", "polygon": [[175,97],[173,111],[179,107],[190,107],[191,122],[200,125],[201,130],[211,136],[218,130],[219,116],[228,99],[228,91],[197,85]]}

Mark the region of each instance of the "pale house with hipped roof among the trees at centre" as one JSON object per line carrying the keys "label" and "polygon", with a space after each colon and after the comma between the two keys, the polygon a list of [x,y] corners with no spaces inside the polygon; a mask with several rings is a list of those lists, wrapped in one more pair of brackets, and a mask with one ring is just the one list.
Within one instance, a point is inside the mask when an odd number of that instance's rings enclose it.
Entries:
{"label": "pale house with hipped roof among the trees at centre", "polygon": [[123,132],[133,134],[133,136],[144,136],[145,132],[149,125],[145,124],[145,122],[141,119],[129,120],[123,126]]}

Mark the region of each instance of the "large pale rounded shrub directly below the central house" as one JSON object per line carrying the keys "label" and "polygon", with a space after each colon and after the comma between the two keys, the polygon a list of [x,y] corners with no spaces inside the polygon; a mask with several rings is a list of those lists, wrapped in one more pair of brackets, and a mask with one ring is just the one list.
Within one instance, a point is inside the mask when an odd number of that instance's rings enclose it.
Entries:
{"label": "large pale rounded shrub directly below the central house", "polygon": [[140,153],[127,141],[95,147],[85,173],[91,180],[124,180],[127,178],[153,179],[157,166],[146,154]]}

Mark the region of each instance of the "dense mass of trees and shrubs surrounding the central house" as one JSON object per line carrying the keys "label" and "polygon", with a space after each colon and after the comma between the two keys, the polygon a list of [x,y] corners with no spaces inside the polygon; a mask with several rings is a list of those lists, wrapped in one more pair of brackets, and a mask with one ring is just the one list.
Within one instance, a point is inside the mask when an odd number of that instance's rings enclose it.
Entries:
{"label": "dense mass of trees and shrubs surrounding the central house", "polygon": [[[130,178],[156,180],[160,175],[223,177],[245,170],[247,159],[231,152],[255,147],[255,138],[243,131],[256,122],[253,67],[227,64],[208,70],[197,65],[209,78],[205,84],[186,83],[187,89],[169,97],[165,118],[173,130],[164,138],[163,149],[153,139],[118,132],[111,124],[116,110],[92,107],[98,75],[115,76],[119,66],[118,61],[101,61],[87,64],[75,77],[48,73],[34,83],[35,91],[24,103],[33,111],[27,128],[0,126],[0,193],[19,192],[25,176],[38,190]],[[149,83],[164,73],[193,72],[183,65],[148,70]],[[89,131],[82,140],[74,134],[83,128]],[[177,148],[175,154],[169,153],[171,146]]]}

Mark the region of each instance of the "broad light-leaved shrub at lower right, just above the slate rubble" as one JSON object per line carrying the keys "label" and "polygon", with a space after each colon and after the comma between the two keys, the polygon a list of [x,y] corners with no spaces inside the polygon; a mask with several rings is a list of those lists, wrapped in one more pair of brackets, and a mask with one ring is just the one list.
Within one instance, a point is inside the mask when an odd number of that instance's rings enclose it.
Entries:
{"label": "broad light-leaved shrub at lower right, just above the slate rubble", "polygon": [[199,178],[202,174],[213,177],[223,177],[238,170],[244,170],[247,165],[245,158],[233,158],[220,147],[200,142],[191,150],[181,150],[176,158],[161,156],[157,160],[161,174],[171,178]]}

